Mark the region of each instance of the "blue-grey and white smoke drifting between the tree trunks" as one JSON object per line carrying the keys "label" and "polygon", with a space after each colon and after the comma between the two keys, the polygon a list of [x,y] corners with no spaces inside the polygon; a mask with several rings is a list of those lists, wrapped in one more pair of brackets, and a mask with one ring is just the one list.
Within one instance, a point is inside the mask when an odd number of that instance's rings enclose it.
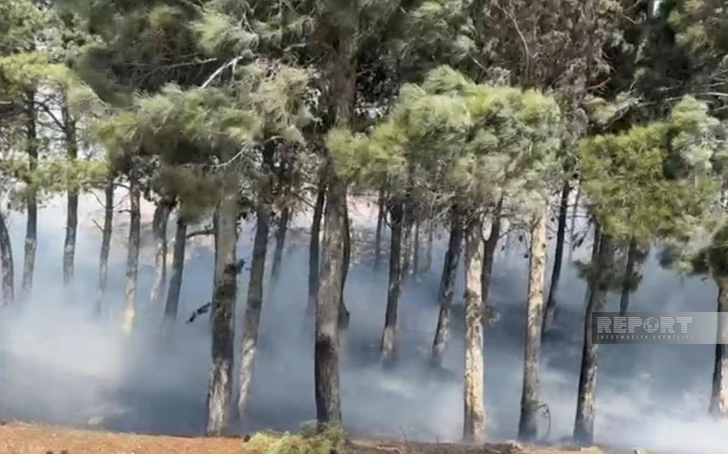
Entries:
{"label": "blue-grey and white smoke drifting between the tree trunks", "polygon": [[[117,200],[123,196],[117,191]],[[359,205],[352,213],[353,228],[373,229],[375,208]],[[59,199],[40,210],[32,300],[1,314],[0,417],[111,430],[201,434],[210,361],[209,319],[205,315],[189,325],[184,320],[211,295],[213,257],[209,241],[188,247],[173,342],[163,346],[150,341],[157,331],[158,314],[151,317],[148,307],[153,276],[149,225],[153,208],[145,206],[137,299],[140,333],[124,340],[118,315],[123,299],[128,214],[115,215],[107,298],[110,314],[106,321],[92,323],[101,242],[101,232],[92,219],[101,223],[102,208],[94,197],[81,198],[76,297],[67,305],[61,287],[64,207],[65,201]],[[12,213],[9,223],[19,293],[25,217]],[[173,226],[170,222],[170,239]],[[241,236],[241,258],[250,256],[251,227],[246,226]],[[309,220],[299,216],[291,227],[308,229]],[[293,241],[300,246],[284,256],[276,297],[263,307],[252,400],[240,431],[295,430],[302,421],[315,418],[313,330],[304,317],[308,239]],[[445,233],[436,242],[432,269],[422,281],[410,280],[404,288],[399,329],[402,365],[394,372],[382,371],[376,361],[386,306],[386,271],[375,275],[369,264],[352,266],[346,288],[351,325],[342,359],[341,393],[345,425],[355,435],[424,441],[456,441],[461,436],[462,267],[458,269],[458,307],[445,360],[452,374],[433,376],[425,367],[437,321],[435,296],[446,241]],[[574,258],[586,256],[589,247],[586,241]],[[272,248],[271,241],[269,262]],[[518,426],[528,265],[524,252],[524,245],[509,241],[509,248],[496,259],[491,285],[491,298],[501,320],[487,329],[485,337],[490,439],[514,438]],[[567,257],[568,246],[565,260]],[[550,263],[548,271],[550,276]],[[246,270],[240,279],[239,317],[245,309],[248,274]],[[569,436],[573,428],[585,290],[574,268],[565,263],[557,320],[560,340],[545,347],[541,368],[541,399],[549,405],[553,420],[551,440]],[[712,311],[716,296],[710,281],[681,279],[650,260],[642,285],[632,297],[631,309]],[[617,295],[612,296],[610,310],[616,310],[617,300]],[[239,323],[238,336],[240,327]],[[687,453],[728,452],[728,426],[710,422],[705,416],[713,355],[710,345],[601,346],[597,441]]]}

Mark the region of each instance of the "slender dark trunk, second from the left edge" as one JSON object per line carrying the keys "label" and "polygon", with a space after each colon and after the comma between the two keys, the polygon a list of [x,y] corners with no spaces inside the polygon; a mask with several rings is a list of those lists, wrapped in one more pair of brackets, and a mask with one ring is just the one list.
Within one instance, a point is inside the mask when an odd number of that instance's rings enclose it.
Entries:
{"label": "slender dark trunk, second from the left edge", "polygon": [[[35,91],[30,90],[26,95],[26,127],[29,168],[32,172],[38,166],[38,136],[35,111]],[[33,275],[35,274],[35,252],[38,247],[38,199],[36,188],[31,183],[27,188],[27,218],[25,227],[25,256],[23,257],[23,281],[21,292],[23,297],[30,298],[33,290]]]}

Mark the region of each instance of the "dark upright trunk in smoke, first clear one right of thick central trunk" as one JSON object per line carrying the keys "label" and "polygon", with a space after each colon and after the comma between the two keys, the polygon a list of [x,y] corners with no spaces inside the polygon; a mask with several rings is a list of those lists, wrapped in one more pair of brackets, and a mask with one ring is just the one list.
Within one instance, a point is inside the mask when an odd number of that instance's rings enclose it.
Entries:
{"label": "dark upright trunk in smoke, first clear one right of thick central trunk", "polygon": [[392,235],[389,249],[389,288],[387,290],[387,312],[380,354],[385,365],[394,363],[397,357],[397,311],[402,292],[402,202],[394,201],[390,212]]}

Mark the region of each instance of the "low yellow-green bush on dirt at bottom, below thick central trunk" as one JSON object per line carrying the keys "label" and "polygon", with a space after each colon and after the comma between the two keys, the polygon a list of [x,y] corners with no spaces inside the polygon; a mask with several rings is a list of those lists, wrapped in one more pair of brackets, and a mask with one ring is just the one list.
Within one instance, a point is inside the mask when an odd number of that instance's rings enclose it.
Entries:
{"label": "low yellow-green bush on dirt at bottom, below thick central trunk", "polygon": [[301,425],[300,434],[260,432],[245,443],[246,454],[331,454],[344,446],[339,426],[319,427],[316,421]]}

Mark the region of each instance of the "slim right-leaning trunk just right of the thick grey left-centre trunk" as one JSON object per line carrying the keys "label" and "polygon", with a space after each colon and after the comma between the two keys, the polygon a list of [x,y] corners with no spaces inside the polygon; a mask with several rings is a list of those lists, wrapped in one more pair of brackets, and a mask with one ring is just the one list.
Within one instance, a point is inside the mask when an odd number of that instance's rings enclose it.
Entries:
{"label": "slim right-leaning trunk just right of the thick grey left-centre trunk", "polygon": [[266,145],[263,157],[265,181],[258,194],[255,221],[255,238],[253,240],[253,256],[250,264],[250,281],[248,283],[248,299],[245,306],[243,322],[243,340],[240,348],[240,370],[238,385],[238,405],[236,416],[242,417],[248,403],[250,384],[253,379],[255,352],[258,348],[258,329],[260,328],[260,312],[263,306],[263,278],[265,276],[265,258],[268,252],[268,233],[270,229],[271,198],[273,190],[273,155],[275,143]]}

